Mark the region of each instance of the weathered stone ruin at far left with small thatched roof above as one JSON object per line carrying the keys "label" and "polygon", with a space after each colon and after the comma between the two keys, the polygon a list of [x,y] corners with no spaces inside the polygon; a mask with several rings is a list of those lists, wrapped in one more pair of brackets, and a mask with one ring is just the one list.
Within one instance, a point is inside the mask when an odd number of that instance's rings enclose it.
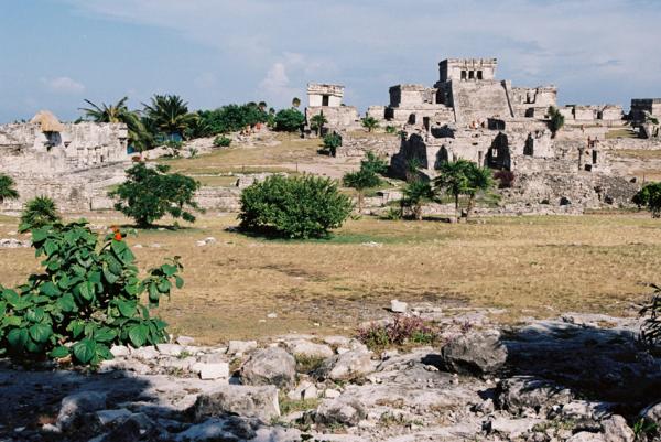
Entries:
{"label": "weathered stone ruin at far left with small thatched roof above", "polygon": [[63,211],[109,207],[108,186],[124,179],[128,130],[123,123],[61,123],[48,111],[29,122],[0,125],[0,171],[14,179],[18,211],[34,196],[50,196]]}

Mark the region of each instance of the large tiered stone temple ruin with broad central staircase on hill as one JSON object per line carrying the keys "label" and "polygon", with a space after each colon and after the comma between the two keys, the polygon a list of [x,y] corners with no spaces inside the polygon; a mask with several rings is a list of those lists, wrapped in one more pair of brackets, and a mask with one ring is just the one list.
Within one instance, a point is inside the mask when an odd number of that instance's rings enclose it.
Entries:
{"label": "large tiered stone temple ruin with broad central staircase on hill", "polygon": [[607,130],[624,125],[621,107],[562,107],[565,128],[555,138],[549,109],[557,107],[556,88],[514,87],[497,79],[496,69],[496,58],[444,60],[433,87],[393,86],[388,106],[368,109],[401,130],[395,174],[404,176],[414,161],[434,177],[442,162],[465,159],[513,172],[517,188],[503,193],[521,204],[596,206],[630,197],[637,186],[613,176],[602,143]]}

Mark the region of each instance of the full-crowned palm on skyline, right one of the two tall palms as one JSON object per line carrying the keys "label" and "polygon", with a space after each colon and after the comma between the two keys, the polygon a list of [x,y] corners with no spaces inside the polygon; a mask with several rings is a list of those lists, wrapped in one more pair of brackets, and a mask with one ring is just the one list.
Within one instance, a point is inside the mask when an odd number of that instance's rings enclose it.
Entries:
{"label": "full-crowned palm on skyline, right one of the two tall palms", "polygon": [[197,115],[188,112],[188,104],[177,95],[156,94],[149,105],[143,103],[142,106],[149,125],[165,136],[183,138],[197,119]]}

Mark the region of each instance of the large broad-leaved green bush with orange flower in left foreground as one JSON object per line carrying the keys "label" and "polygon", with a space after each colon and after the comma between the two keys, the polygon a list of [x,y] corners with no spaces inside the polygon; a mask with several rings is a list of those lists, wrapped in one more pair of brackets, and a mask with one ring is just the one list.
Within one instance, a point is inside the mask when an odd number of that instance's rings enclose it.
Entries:
{"label": "large broad-leaved green bush with orange flower in left foreground", "polygon": [[[166,324],[150,316],[173,285],[181,288],[178,257],[139,278],[134,257],[118,229],[104,237],[85,220],[32,230],[44,272],[15,290],[0,287],[0,353],[63,358],[79,364],[111,359],[110,346],[166,341]],[[141,303],[147,292],[149,304]]]}

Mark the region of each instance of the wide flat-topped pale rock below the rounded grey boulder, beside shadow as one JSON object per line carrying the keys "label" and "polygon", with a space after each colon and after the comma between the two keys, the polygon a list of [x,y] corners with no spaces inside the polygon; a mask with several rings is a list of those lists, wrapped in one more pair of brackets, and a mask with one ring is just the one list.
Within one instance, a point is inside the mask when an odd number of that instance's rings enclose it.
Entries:
{"label": "wide flat-topped pale rock below the rounded grey boulder, beside shadow", "polygon": [[212,392],[199,395],[192,409],[197,422],[225,413],[269,422],[272,418],[280,417],[278,389],[274,386],[225,385]]}

